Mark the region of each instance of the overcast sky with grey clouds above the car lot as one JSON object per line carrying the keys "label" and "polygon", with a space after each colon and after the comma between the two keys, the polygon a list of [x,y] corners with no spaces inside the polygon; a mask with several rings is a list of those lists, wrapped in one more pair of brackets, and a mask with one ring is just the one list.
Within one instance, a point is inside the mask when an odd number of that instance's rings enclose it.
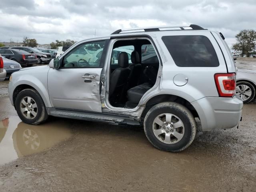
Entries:
{"label": "overcast sky with grey clouds above the car lot", "polygon": [[108,35],[119,28],[198,24],[218,30],[229,46],[256,30],[255,0],[1,0],[0,42],[39,44]]}

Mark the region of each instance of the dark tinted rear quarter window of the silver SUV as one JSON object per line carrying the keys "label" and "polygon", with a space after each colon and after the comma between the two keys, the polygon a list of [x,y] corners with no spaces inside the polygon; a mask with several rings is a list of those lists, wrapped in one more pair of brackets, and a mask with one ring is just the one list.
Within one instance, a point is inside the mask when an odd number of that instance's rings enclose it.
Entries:
{"label": "dark tinted rear quarter window of the silver SUV", "polygon": [[206,36],[163,36],[162,40],[177,66],[219,66],[216,52]]}

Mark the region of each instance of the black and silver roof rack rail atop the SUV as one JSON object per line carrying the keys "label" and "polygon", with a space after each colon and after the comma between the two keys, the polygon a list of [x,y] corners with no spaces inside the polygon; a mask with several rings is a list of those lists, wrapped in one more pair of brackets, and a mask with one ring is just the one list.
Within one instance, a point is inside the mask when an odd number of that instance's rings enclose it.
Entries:
{"label": "black and silver roof rack rail atop the SUV", "polygon": [[[155,27],[118,29],[115,32],[113,32],[112,35],[120,34],[120,32],[129,33],[129,31],[130,32],[136,32],[136,31],[141,32],[142,30],[144,30],[144,32],[151,32],[151,31],[160,31],[160,29],[175,30],[174,28],[179,28],[178,30],[206,30],[206,29],[202,28],[201,26],[191,24],[190,26],[155,26]],[[187,29],[187,28],[191,28],[191,29]]]}

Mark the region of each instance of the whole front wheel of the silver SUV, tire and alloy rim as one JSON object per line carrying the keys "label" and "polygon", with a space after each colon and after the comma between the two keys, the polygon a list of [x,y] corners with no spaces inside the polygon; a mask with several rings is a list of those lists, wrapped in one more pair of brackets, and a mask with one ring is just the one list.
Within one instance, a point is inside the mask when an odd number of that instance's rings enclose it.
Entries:
{"label": "whole front wheel of the silver SUV, tire and alloy rim", "polygon": [[16,100],[15,107],[20,119],[27,124],[40,124],[48,118],[44,101],[34,89],[22,90]]}

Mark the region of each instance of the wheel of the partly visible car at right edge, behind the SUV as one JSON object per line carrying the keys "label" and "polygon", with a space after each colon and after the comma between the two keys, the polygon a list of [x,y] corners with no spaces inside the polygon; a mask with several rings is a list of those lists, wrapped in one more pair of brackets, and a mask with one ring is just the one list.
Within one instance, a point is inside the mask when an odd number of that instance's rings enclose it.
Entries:
{"label": "wheel of the partly visible car at right edge, behind the SUV", "polygon": [[255,97],[254,86],[246,81],[239,81],[236,83],[236,97],[244,103],[252,101]]}

